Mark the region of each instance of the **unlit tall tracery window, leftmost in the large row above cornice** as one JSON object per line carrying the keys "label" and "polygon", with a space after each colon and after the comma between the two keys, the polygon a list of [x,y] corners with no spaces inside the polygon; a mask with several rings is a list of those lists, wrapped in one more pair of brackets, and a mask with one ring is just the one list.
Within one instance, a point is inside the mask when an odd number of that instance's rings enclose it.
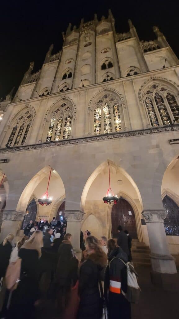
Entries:
{"label": "unlit tall tracery window, leftmost in the large row above cornice", "polygon": [[25,109],[24,112],[21,112],[20,115],[13,120],[11,124],[12,130],[6,147],[23,145],[25,143],[31,126],[32,118],[32,110]]}

